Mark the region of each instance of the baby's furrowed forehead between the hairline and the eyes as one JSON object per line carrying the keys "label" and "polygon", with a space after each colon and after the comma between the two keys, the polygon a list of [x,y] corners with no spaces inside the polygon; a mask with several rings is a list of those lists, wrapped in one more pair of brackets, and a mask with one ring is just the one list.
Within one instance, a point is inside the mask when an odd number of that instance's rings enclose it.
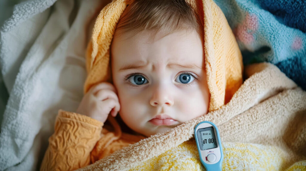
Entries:
{"label": "baby's furrowed forehead between the hairline and the eyes", "polygon": [[[114,37],[111,56],[112,63],[120,68],[126,65],[179,64],[203,68],[203,46],[196,31],[177,31],[168,35],[157,35],[152,40],[152,32],[143,32],[126,38]],[[156,36],[156,35],[155,35]],[[153,65],[152,65],[153,67]]]}

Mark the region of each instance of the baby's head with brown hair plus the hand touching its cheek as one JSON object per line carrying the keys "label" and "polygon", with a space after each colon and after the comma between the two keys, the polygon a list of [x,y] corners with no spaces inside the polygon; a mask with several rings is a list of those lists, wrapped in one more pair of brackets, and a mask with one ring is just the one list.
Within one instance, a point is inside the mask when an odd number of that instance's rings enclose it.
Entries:
{"label": "baby's head with brown hair plus the hand touching its cheek", "polygon": [[77,113],[104,123],[109,113],[119,112],[145,136],[207,113],[203,27],[185,1],[174,2],[135,1],[127,7],[111,45],[114,86],[92,87]]}

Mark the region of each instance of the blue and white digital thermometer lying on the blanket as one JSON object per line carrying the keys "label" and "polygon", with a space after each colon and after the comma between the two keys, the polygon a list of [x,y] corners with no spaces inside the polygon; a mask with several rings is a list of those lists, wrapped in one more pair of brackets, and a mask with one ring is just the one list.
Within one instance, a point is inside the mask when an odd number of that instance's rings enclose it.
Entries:
{"label": "blue and white digital thermometer lying on the blanket", "polygon": [[200,160],[206,170],[222,170],[223,151],[217,126],[203,121],[194,129],[194,136]]}

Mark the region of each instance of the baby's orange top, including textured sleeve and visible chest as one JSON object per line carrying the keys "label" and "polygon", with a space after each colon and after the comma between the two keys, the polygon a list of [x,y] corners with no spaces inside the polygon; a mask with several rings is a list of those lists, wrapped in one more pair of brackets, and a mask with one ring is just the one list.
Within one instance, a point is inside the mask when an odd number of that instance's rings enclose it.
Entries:
{"label": "baby's orange top, including textured sleeve and visible chest", "polygon": [[108,131],[103,125],[88,116],[60,110],[40,170],[79,169],[145,138],[120,129]]}

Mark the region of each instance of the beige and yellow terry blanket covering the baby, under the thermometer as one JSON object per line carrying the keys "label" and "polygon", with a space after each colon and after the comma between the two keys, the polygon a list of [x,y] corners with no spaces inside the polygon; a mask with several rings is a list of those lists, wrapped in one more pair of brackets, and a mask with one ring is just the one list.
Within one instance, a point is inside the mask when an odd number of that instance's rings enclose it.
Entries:
{"label": "beige and yellow terry blanket covering the baby, under the thermometer", "polygon": [[270,63],[247,66],[245,74],[220,109],[79,170],[203,170],[193,136],[201,121],[218,126],[222,170],[305,170],[306,92]]}

